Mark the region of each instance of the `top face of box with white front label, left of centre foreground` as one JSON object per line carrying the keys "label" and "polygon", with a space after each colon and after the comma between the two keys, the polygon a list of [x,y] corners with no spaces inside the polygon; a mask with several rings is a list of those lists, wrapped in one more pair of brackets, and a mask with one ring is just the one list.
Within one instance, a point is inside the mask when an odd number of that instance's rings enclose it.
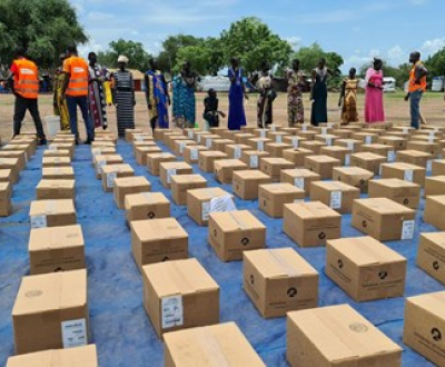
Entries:
{"label": "top face of box with white front label, left of centre foreground", "polygon": [[219,289],[195,258],[147,265],[144,271],[160,298]]}

